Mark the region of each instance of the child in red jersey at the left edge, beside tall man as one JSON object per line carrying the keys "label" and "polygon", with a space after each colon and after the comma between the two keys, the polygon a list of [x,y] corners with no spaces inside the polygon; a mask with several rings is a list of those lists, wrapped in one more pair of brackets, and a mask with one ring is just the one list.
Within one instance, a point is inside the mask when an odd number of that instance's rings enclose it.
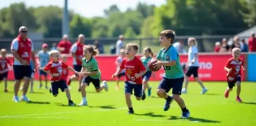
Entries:
{"label": "child in red jersey at the left edge, beside tall man", "polygon": [[1,49],[1,57],[0,57],[0,83],[2,80],[5,81],[5,92],[8,92],[7,90],[7,76],[8,76],[8,65],[10,64],[10,61],[6,58],[6,49]]}

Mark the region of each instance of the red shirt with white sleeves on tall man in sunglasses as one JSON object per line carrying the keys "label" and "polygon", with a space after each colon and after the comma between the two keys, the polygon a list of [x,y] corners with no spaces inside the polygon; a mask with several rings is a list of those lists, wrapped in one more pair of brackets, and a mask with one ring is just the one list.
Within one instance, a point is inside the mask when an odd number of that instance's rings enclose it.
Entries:
{"label": "red shirt with white sleeves on tall man in sunglasses", "polygon": [[[20,35],[16,39],[13,39],[11,44],[12,50],[17,50],[17,54],[24,60],[30,62],[31,51],[34,50],[32,41],[30,39],[23,40]],[[14,65],[22,65],[21,61],[14,58]]]}

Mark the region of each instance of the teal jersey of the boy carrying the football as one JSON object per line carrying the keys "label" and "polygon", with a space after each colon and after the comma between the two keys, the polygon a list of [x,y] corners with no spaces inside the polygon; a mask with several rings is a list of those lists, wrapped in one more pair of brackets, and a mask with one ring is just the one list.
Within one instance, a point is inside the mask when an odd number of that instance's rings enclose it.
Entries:
{"label": "teal jersey of the boy carrying the football", "polygon": [[182,66],[180,65],[179,54],[174,46],[167,50],[162,48],[156,56],[160,61],[176,61],[174,66],[164,66],[164,77],[168,79],[177,79],[184,76]]}

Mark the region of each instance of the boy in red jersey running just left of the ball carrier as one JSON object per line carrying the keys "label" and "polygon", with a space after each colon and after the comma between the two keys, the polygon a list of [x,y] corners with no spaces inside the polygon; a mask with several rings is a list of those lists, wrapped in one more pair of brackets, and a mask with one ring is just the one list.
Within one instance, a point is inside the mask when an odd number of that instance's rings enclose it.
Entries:
{"label": "boy in red jersey running just left of the ball carrier", "polygon": [[134,109],[130,99],[130,95],[136,96],[137,100],[145,100],[145,93],[142,91],[142,77],[147,70],[142,64],[141,60],[135,55],[137,54],[138,45],[137,43],[128,43],[126,45],[126,56],[127,59],[122,61],[120,68],[112,75],[115,78],[122,72],[122,69],[126,69],[126,81],[125,81],[125,95],[126,104],[129,108],[128,114],[133,114]]}

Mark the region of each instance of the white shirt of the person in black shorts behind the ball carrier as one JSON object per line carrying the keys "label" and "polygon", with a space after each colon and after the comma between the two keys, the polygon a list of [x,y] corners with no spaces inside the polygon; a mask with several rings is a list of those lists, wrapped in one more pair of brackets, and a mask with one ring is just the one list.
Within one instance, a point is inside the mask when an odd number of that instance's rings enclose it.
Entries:
{"label": "white shirt of the person in black shorts behind the ball carrier", "polygon": [[198,58],[192,64],[191,61],[194,59],[194,54],[198,54],[198,47],[197,46],[190,46],[188,50],[188,63],[189,66],[199,66]]}

